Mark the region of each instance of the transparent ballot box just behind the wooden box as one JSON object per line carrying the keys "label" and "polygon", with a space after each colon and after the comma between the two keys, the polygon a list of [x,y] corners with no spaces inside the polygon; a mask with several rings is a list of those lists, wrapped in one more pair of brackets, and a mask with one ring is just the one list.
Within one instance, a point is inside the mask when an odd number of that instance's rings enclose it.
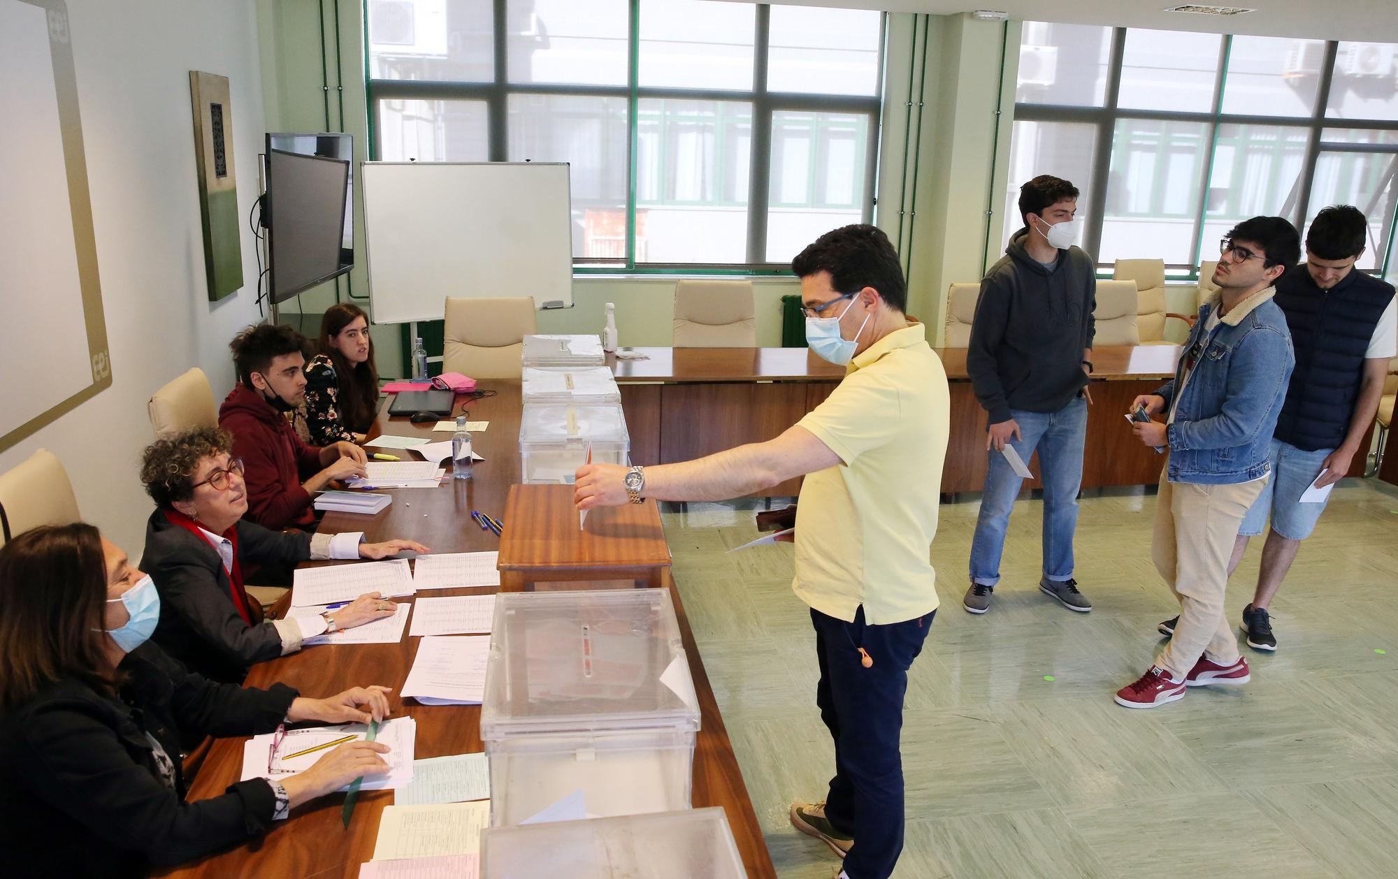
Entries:
{"label": "transparent ballot box just behind the wooden box", "polygon": [[520,415],[520,481],[572,482],[587,463],[630,460],[630,435],[619,402],[526,405]]}

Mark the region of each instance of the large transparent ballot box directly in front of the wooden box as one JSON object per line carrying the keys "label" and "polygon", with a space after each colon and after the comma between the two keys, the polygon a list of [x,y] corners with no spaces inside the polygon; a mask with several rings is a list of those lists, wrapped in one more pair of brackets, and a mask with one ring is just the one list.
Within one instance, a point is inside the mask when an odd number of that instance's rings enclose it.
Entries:
{"label": "large transparent ballot box directly in front of the wooden box", "polygon": [[689,808],[699,702],[663,588],[500,593],[481,703],[491,824]]}

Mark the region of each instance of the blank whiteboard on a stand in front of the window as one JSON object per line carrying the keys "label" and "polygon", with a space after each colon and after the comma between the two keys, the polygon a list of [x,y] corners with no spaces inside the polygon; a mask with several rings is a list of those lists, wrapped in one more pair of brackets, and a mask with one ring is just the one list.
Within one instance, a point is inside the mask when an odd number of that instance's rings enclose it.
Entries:
{"label": "blank whiteboard on a stand in front of the window", "polygon": [[365,162],[373,323],[440,320],[447,296],[573,303],[568,165]]}

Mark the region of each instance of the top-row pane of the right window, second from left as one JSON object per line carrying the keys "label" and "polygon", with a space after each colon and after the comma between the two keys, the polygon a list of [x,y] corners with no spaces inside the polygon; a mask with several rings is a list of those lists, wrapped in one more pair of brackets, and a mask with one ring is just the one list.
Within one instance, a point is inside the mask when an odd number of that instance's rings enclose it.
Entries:
{"label": "top-row pane of the right window, second from left", "polygon": [[1117,106],[1211,112],[1222,46],[1218,34],[1128,29]]}

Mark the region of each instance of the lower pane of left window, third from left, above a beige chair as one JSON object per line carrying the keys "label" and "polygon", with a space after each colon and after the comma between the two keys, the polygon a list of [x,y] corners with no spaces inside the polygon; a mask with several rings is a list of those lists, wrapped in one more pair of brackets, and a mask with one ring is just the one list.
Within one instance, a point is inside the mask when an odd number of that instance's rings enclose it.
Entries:
{"label": "lower pane of left window, third from left, above a beige chair", "polygon": [[647,98],[636,113],[636,261],[747,261],[752,105]]}

